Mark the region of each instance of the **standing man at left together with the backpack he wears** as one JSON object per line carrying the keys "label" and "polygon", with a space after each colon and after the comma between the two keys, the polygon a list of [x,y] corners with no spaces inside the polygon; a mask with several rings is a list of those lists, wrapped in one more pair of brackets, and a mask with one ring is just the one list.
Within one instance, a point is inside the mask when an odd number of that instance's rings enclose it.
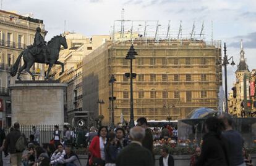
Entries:
{"label": "standing man at left together with the backpack he wears", "polygon": [[25,149],[25,136],[20,133],[20,124],[15,122],[14,130],[6,136],[4,148],[11,154],[11,165],[21,165]]}

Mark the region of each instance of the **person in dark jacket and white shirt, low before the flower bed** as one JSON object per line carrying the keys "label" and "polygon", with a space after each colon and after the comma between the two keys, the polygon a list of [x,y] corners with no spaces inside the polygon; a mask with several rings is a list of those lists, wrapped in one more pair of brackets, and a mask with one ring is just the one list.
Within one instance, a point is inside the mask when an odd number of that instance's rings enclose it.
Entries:
{"label": "person in dark jacket and white shirt, low before the flower bed", "polygon": [[174,166],[174,159],[171,154],[168,152],[168,148],[163,146],[161,148],[161,157],[159,158],[160,166]]}

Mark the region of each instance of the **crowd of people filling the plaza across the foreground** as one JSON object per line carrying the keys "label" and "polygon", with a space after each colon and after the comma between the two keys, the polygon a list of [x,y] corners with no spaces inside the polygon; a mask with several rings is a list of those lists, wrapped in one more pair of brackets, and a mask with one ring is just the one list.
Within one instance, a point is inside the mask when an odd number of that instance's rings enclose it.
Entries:
{"label": "crowd of people filling the plaza across the foreground", "polygon": [[[229,114],[220,117],[208,117],[205,121],[205,135],[195,154],[190,158],[190,166],[201,165],[253,165],[250,155],[243,147],[242,136],[233,130],[233,119]],[[177,127],[166,125],[159,128],[148,128],[147,119],[140,117],[133,128],[106,126],[90,127],[84,140],[88,151],[87,164],[81,164],[79,157],[72,150],[72,137],[69,127],[61,131],[58,125],[53,132],[50,143],[39,144],[39,133],[33,128],[29,140],[19,130],[19,123],[14,124],[12,131],[5,136],[0,130],[0,151],[10,154],[11,165],[97,165],[97,166],[173,166],[174,157],[167,146],[161,146],[161,157],[155,160],[153,143],[158,140],[177,141]],[[0,152],[1,153],[1,152]],[[1,153],[2,154],[2,153]],[[0,156],[2,164],[2,156]]]}

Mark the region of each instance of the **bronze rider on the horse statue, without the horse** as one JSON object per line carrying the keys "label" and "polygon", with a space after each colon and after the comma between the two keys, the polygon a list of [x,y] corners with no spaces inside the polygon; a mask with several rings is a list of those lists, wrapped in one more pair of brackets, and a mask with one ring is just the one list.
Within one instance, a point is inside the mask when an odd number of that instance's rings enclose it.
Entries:
{"label": "bronze rider on the horse statue, without the horse", "polygon": [[30,45],[28,49],[30,49],[30,52],[32,52],[33,55],[38,55],[40,52],[43,53],[45,56],[45,63],[49,63],[48,60],[48,53],[46,50],[46,42],[45,39],[43,39],[43,36],[41,35],[41,28],[36,28],[36,34],[33,45]]}

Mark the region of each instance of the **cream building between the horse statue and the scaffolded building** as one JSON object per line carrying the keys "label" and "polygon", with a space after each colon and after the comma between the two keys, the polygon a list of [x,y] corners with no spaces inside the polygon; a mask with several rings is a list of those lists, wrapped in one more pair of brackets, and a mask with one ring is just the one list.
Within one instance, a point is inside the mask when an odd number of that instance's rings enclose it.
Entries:
{"label": "cream building between the horse statue and the scaffolded building", "polygon": [[100,45],[110,40],[108,35],[95,35],[87,38],[83,34],[64,32],[68,49],[59,52],[59,61],[64,63],[64,73],[61,66],[55,65],[51,70],[54,80],[67,83],[65,97],[65,121],[72,125],[82,119],[88,121],[88,111],[83,109],[82,90],[82,60]]}

